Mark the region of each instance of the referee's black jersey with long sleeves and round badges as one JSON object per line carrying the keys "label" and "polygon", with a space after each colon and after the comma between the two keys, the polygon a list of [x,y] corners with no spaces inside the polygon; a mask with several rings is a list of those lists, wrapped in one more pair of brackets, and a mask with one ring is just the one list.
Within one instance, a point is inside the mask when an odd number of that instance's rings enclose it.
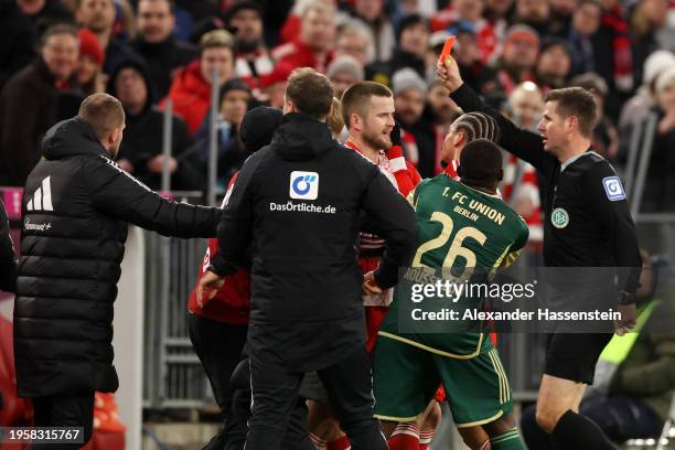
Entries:
{"label": "referee's black jersey with long sleeves and round badges", "polygon": [[612,165],[590,149],[561,164],[544,150],[542,136],[517,128],[467,84],[450,96],[465,113],[493,117],[501,129],[500,144],[534,165],[545,181],[545,265],[625,267],[618,288],[635,293],[642,260],[625,192]]}

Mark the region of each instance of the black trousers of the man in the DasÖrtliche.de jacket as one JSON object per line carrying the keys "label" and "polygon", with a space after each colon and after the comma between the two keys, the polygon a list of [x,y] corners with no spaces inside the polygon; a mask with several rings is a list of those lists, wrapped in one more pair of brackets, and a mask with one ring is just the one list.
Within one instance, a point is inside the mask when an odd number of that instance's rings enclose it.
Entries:
{"label": "black trousers of the man in the Das\u00d6rtliche.de jacket", "polygon": [[[304,374],[285,367],[265,349],[251,353],[253,416],[248,421],[246,450],[278,450]],[[379,421],[373,417],[371,360],[365,346],[317,372],[352,450],[386,450]]]}

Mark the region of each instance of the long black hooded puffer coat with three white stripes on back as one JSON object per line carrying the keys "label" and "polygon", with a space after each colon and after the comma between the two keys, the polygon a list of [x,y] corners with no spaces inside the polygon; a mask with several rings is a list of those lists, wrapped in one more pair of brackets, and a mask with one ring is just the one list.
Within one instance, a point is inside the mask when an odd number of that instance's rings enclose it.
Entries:
{"label": "long black hooded puffer coat with three white stripes on back", "polygon": [[113,303],[127,222],[167,236],[210,237],[221,210],[169,202],[150,191],[109,159],[81,118],[52,127],[42,150],[22,202],[18,392],[114,392]]}

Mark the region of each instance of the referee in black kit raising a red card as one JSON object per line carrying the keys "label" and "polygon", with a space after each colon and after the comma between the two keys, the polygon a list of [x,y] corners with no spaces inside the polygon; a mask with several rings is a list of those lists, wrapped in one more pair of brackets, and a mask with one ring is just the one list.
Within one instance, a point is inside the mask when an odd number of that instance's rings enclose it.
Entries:
{"label": "referee in black kit raising a red card", "polygon": [[[438,66],[437,77],[464,111],[492,116],[502,130],[500,144],[543,175],[545,265],[628,268],[617,293],[621,320],[614,324],[617,334],[623,335],[635,323],[641,259],[621,181],[612,165],[591,148],[597,117],[591,95],[577,87],[551,90],[545,99],[538,136],[517,128],[488,107],[463,84],[452,57],[444,61],[444,66]],[[612,281],[597,283],[602,285],[600,289],[609,287],[615,291]],[[575,293],[590,302],[594,300],[586,291]],[[598,357],[611,336],[611,333],[550,336],[536,420],[550,435],[554,448],[613,449],[600,428],[577,413],[587,386],[592,384]]]}

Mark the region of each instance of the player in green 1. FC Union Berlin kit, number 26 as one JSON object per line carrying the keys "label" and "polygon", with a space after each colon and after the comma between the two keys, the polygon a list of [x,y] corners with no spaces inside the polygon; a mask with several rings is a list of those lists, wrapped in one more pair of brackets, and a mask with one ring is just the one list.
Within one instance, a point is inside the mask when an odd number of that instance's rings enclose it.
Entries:
{"label": "player in green 1. FC Union Berlin kit, number 26", "polygon": [[[473,122],[474,131],[484,132],[479,121]],[[462,144],[460,161],[461,182],[442,173],[420,182],[411,195],[419,227],[413,267],[451,269],[458,277],[468,270],[491,270],[513,261],[527,242],[527,225],[496,194],[503,174],[499,147],[488,139],[473,140],[465,148]],[[472,217],[458,212],[460,204],[471,202],[489,205],[504,219],[496,222],[478,210]],[[364,288],[376,291],[372,278],[366,275]],[[410,301],[409,294],[404,287],[396,288],[375,347],[375,417],[384,421],[385,436],[395,438],[401,427],[414,425],[442,383],[458,428],[482,426],[492,449],[523,450],[510,415],[508,381],[499,353],[480,332],[483,324],[480,331],[459,333],[401,332],[398,309]],[[414,435],[414,427],[400,432],[397,448],[415,449]],[[394,448],[392,438],[389,448]]]}

